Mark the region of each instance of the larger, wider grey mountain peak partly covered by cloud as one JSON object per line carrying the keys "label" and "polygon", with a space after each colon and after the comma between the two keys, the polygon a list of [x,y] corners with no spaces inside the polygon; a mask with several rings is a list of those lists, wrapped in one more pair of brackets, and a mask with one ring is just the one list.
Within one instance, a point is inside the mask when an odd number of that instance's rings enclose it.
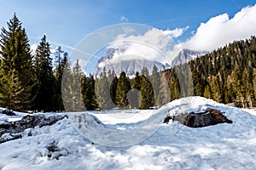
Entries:
{"label": "larger, wider grey mountain peak partly covered by cloud", "polygon": [[124,55],[120,57],[114,57],[115,54],[123,54],[125,48],[108,48],[105,54],[98,60],[94,75],[100,75],[103,69],[106,71],[114,71],[116,75],[119,75],[122,71],[128,76],[133,76],[136,72],[141,72],[143,67],[146,67],[150,72],[153,70],[153,66],[156,65],[159,70],[170,68],[170,65],[163,65],[160,62],[152,61],[137,55]]}

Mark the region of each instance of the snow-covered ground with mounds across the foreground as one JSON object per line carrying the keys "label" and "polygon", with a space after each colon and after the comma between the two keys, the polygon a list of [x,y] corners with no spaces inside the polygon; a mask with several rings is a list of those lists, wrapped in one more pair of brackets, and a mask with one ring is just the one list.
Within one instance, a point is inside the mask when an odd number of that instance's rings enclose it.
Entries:
{"label": "snow-covered ground with mounds across the foreground", "polygon": [[[110,147],[84,139],[73,123],[64,118],[52,126],[27,129],[22,139],[0,144],[0,169],[255,169],[256,116],[249,114],[255,115],[254,111],[189,97],[172,101],[156,112],[91,111],[90,114],[104,123],[97,123],[104,134],[109,129],[117,132],[137,129],[143,122],[150,125],[148,120],[163,122],[168,113],[177,115],[206,108],[224,111],[233,123],[201,128],[186,127],[179,122],[160,123],[151,136],[138,144]],[[7,118],[2,121],[11,120]],[[94,134],[99,135],[97,131]],[[124,136],[124,139],[129,138]]]}

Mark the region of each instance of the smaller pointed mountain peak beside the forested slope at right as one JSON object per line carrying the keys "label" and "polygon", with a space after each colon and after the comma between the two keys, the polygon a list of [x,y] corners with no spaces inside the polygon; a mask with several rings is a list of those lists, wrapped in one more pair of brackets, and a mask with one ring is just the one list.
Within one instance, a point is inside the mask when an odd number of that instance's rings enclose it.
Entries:
{"label": "smaller pointed mountain peak beside the forested slope at right", "polygon": [[179,54],[177,54],[177,57],[172,60],[172,66],[182,65],[189,62],[189,60],[195,59],[203,54],[207,54],[207,51],[198,52],[189,49],[183,49],[181,52],[179,52]]}

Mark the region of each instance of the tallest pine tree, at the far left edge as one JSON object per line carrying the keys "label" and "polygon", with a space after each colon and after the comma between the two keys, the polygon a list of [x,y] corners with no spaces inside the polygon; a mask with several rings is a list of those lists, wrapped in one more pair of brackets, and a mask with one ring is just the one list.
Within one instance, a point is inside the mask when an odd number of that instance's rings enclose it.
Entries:
{"label": "tallest pine tree, at the far left edge", "polygon": [[[0,40],[1,71],[0,81],[6,80],[6,77],[14,74],[17,76],[20,86],[23,89],[19,93],[20,107],[15,107],[17,111],[26,111],[32,109],[32,88],[35,84],[35,76],[32,71],[32,55],[30,45],[26,36],[26,31],[21,26],[20,20],[16,14],[9,20],[8,30],[2,28]],[[1,90],[3,91],[3,90]],[[19,91],[19,90],[17,90]],[[4,97],[4,94],[1,94]],[[14,101],[14,103],[17,103]],[[6,105],[2,105],[3,107]]]}

